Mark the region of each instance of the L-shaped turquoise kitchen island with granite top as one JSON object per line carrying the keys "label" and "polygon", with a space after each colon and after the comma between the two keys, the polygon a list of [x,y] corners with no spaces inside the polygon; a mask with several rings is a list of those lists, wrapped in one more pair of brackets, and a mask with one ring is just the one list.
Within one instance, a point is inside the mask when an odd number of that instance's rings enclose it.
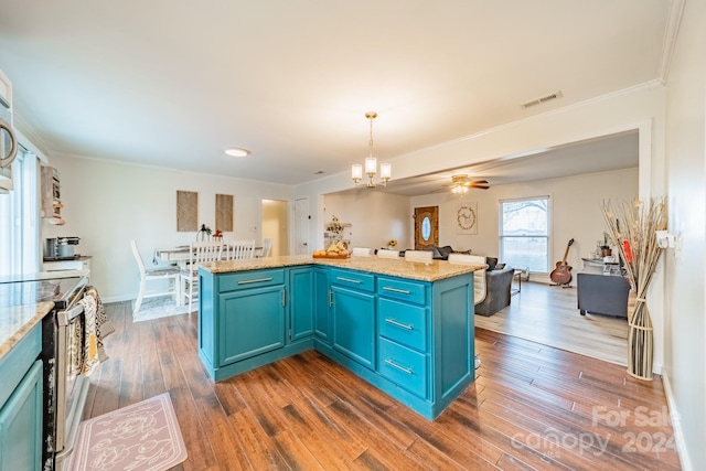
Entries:
{"label": "L-shaped turquoise kitchen island with granite top", "polygon": [[434,419],[474,379],[480,268],[310,256],[204,264],[199,355],[222,381],[315,349]]}

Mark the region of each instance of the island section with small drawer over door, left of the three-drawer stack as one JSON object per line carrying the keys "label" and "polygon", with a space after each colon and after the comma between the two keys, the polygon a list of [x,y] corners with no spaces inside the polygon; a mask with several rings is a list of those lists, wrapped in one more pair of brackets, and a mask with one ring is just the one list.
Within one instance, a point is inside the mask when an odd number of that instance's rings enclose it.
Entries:
{"label": "island section with small drawer over door, left of the three-drawer stack", "polygon": [[375,370],[375,277],[331,270],[333,349]]}

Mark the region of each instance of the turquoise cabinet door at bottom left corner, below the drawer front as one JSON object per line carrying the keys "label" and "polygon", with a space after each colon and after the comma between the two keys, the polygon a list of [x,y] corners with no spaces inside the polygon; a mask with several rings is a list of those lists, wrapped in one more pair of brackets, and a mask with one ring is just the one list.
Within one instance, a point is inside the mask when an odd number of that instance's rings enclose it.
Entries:
{"label": "turquoise cabinet door at bottom left corner, below the drawer front", "polygon": [[0,470],[42,469],[42,361],[0,408]]}

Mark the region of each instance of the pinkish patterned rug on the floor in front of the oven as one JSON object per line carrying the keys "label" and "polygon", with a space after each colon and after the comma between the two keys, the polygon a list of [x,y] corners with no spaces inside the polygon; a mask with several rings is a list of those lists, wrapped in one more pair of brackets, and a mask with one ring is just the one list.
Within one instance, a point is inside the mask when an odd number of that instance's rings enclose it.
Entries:
{"label": "pinkish patterned rug on the floor in front of the oven", "polygon": [[64,470],[162,471],[186,459],[169,393],[85,420]]}

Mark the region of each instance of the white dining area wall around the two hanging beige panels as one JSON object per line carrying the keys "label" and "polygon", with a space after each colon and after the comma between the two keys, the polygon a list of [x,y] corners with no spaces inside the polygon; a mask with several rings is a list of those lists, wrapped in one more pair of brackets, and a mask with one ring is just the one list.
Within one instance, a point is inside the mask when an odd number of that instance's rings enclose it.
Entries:
{"label": "white dining area wall around the two hanging beige panels", "polygon": [[105,302],[135,299],[139,272],[130,250],[136,239],[150,263],[157,247],[195,239],[176,232],[176,191],[199,193],[199,225],[215,229],[215,195],[234,195],[234,232],[224,238],[261,242],[261,200],[291,200],[286,185],[138,167],[97,159],[50,156],[61,175],[64,226],[43,225],[43,238],[77,236],[76,251],[90,255],[92,282]]}

